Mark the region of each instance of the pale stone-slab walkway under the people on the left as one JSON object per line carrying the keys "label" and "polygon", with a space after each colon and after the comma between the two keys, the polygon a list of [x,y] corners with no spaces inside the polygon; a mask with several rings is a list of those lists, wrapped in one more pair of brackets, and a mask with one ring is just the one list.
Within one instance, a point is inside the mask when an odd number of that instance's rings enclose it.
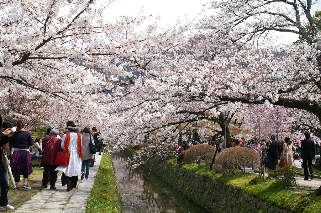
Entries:
{"label": "pale stone-slab walkway under the people on the left", "polygon": [[97,170],[100,165],[101,155],[96,154],[95,165],[97,167],[90,168],[89,180],[80,180],[76,189],[67,192],[67,186],[61,185],[61,176],[57,178],[56,190],[48,188],[42,189],[35,194],[29,201],[23,204],[14,212],[50,212],[50,213],[78,213],[85,212],[86,201],[90,196],[92,186],[95,181]]}

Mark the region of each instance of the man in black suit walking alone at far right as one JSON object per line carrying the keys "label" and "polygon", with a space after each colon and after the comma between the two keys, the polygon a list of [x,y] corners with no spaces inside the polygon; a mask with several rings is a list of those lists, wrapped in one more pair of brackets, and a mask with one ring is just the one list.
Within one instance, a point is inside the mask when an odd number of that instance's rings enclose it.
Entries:
{"label": "man in black suit walking alone at far right", "polygon": [[301,141],[301,157],[303,160],[303,170],[304,170],[304,180],[309,179],[308,168],[311,174],[311,180],[313,179],[313,168],[312,160],[316,159],[316,150],[314,146],[314,141],[310,139],[310,133],[304,133],[305,139]]}

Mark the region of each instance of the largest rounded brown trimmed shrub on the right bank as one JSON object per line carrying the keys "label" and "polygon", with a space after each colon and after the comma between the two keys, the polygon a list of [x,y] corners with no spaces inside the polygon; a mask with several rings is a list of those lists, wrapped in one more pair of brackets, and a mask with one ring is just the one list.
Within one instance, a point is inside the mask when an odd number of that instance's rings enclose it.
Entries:
{"label": "largest rounded brown trimmed shrub on the right bank", "polygon": [[[260,165],[260,157],[253,149],[247,147],[230,147],[220,152],[215,159],[216,167],[218,172],[225,174],[226,172],[233,172],[234,168],[239,166],[251,167],[253,165]],[[242,170],[244,173],[244,171]]]}

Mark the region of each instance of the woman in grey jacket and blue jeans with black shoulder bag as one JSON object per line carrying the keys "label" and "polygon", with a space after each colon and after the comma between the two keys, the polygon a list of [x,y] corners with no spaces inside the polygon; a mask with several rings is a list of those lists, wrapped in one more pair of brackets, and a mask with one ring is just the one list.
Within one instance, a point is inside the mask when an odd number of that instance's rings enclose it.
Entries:
{"label": "woman in grey jacket and blue jeans with black shoulder bag", "polygon": [[[86,177],[86,180],[89,180],[89,165],[90,165],[90,161],[92,159],[94,159],[94,154],[90,153],[90,144],[92,143],[92,145],[94,146],[94,139],[92,137],[92,135],[90,134],[90,128],[89,127],[85,127],[83,128],[82,131],[82,155],[83,155],[83,159],[82,159],[82,168],[81,168],[81,180],[83,179],[83,176]],[[85,174],[85,168],[86,168],[86,174]]]}

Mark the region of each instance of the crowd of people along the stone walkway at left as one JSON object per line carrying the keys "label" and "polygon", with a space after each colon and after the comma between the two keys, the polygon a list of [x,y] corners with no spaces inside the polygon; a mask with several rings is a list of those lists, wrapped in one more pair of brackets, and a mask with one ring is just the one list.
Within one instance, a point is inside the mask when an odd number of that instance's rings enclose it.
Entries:
{"label": "crowd of people along the stone walkway at left", "polygon": [[[9,191],[9,173],[14,176],[16,191],[20,190],[20,181],[23,180],[23,188],[31,189],[28,184],[28,177],[32,173],[30,157],[30,146],[39,152],[40,168],[43,168],[42,185],[44,188],[50,184],[50,189],[55,190],[58,171],[62,171],[62,186],[67,185],[67,191],[76,188],[78,176],[81,180],[89,180],[90,167],[95,167],[95,151],[99,154],[104,151],[104,146],[97,132],[96,127],[84,127],[80,132],[73,121],[66,123],[66,132],[49,127],[47,136],[38,136],[35,142],[28,131],[25,130],[25,122],[20,119],[13,123],[11,120],[4,120],[0,115],[0,207],[13,210],[14,207],[8,204],[7,193]],[[90,144],[91,143],[91,144]],[[95,149],[90,149],[95,147]],[[93,151],[94,150],[94,151]],[[57,165],[56,155],[63,152],[67,158],[66,165]],[[95,153],[92,153],[95,152]],[[10,160],[10,163],[9,163]],[[10,165],[10,167],[9,167]],[[20,178],[23,176],[23,178]]]}

